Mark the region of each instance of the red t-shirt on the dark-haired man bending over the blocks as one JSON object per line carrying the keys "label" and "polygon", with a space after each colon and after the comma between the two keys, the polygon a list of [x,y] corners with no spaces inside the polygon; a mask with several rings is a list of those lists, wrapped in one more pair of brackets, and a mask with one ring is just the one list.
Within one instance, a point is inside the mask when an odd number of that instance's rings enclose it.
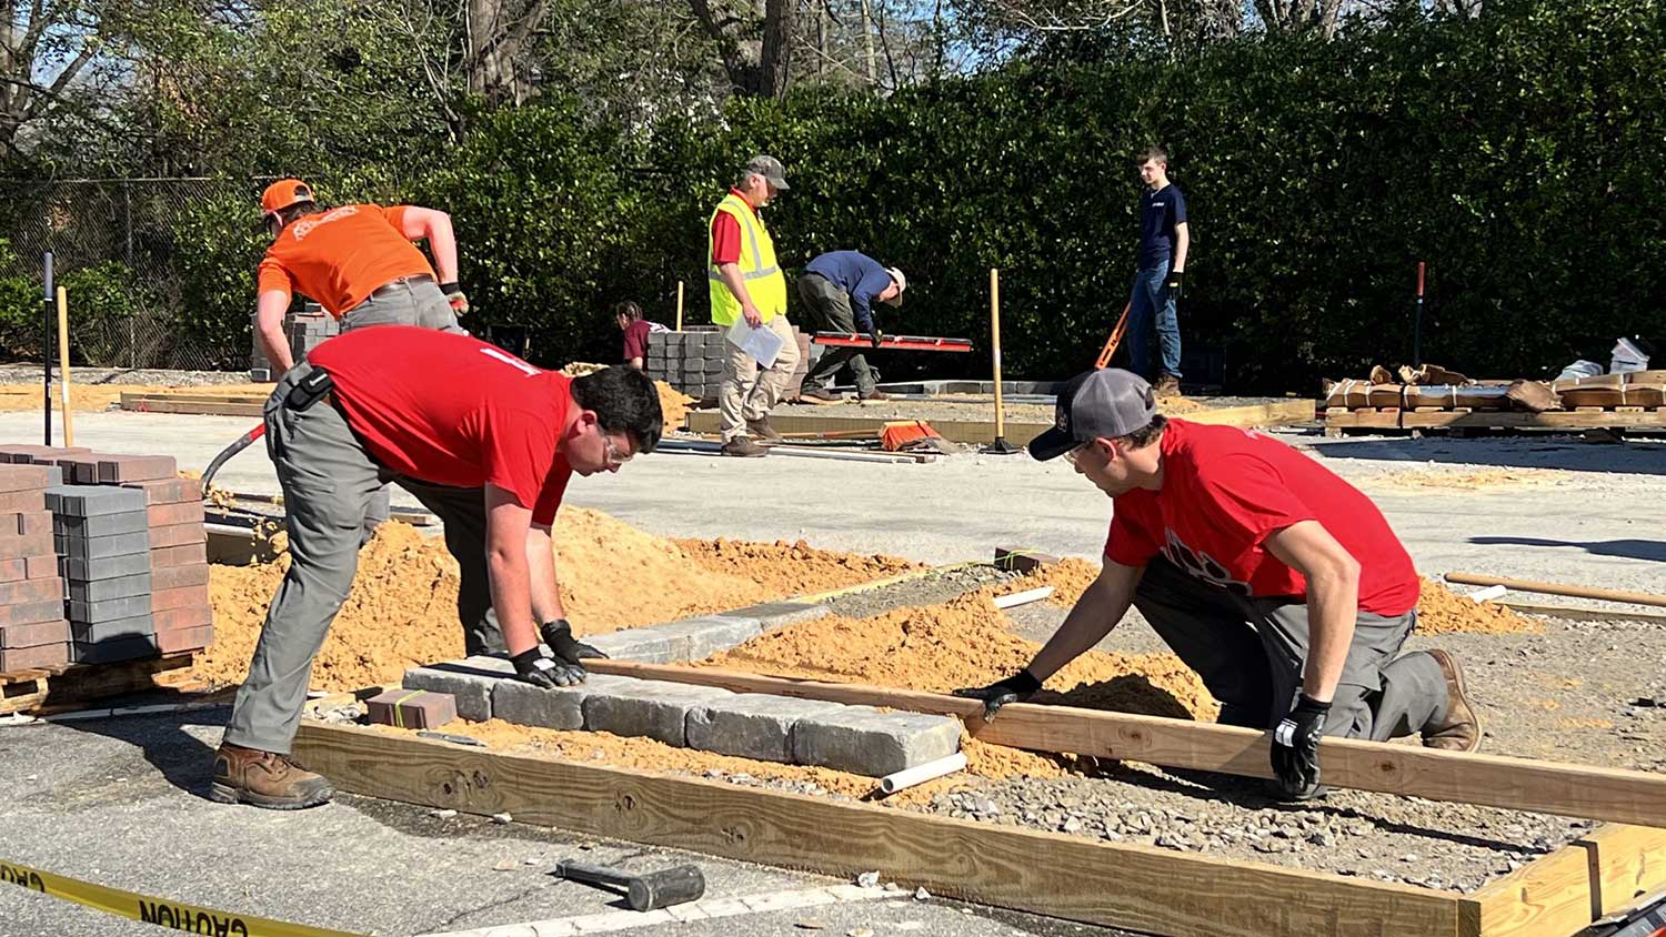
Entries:
{"label": "red t-shirt on the dark-haired man bending over the blocks", "polygon": [[555,521],[573,468],[560,453],[571,379],[465,335],[415,326],[350,331],[307,354],[330,373],[347,424],[400,474],[515,493]]}

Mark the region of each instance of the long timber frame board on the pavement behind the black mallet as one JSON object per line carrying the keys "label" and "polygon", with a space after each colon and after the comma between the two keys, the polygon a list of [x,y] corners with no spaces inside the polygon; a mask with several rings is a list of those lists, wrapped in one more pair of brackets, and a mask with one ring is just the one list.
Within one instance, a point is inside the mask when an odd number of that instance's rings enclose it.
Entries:
{"label": "long timber frame board on the pavement behind the black mallet", "polygon": [[[1173,937],[1461,935],[1458,894],[1098,842],[718,781],[303,721],[295,754],[355,794],[691,849]],[[1299,900],[1294,900],[1299,897]]]}

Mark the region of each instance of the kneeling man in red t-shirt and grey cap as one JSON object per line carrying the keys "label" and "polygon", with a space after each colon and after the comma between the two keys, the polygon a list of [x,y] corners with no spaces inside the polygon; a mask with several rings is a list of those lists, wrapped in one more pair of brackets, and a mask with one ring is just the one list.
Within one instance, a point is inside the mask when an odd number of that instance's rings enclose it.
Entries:
{"label": "kneeling man in red t-shirt and grey cap", "polygon": [[1399,654],[1418,574],[1381,511],[1259,433],[1156,413],[1151,386],[1090,371],[1030,443],[1115,501],[1105,568],[1028,667],[988,687],[990,716],[1041,689],[1138,607],[1221,702],[1220,721],[1273,729],[1274,787],[1311,797],[1319,736],[1474,751],[1481,727],[1446,651]]}

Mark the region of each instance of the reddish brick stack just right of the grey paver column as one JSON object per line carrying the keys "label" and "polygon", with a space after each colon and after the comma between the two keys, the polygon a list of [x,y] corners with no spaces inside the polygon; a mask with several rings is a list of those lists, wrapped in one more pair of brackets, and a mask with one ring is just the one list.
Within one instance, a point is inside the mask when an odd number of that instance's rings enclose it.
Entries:
{"label": "reddish brick stack just right of the grey paver column", "polygon": [[213,644],[202,481],[130,481],[123,488],[145,494],[150,619],[157,649],[177,654]]}

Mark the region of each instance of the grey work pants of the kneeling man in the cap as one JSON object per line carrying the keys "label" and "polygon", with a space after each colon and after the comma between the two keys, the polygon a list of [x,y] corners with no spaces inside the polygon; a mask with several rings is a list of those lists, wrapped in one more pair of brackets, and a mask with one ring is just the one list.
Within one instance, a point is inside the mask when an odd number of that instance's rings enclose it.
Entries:
{"label": "grey work pants of the kneeling man in the cap", "polygon": [[[1135,607],[1203,677],[1221,702],[1221,722],[1271,729],[1289,712],[1308,659],[1306,604],[1238,596],[1156,558],[1140,578]],[[1399,654],[1416,621],[1414,611],[1359,612],[1326,736],[1381,742],[1446,717],[1439,664],[1421,651]]]}

